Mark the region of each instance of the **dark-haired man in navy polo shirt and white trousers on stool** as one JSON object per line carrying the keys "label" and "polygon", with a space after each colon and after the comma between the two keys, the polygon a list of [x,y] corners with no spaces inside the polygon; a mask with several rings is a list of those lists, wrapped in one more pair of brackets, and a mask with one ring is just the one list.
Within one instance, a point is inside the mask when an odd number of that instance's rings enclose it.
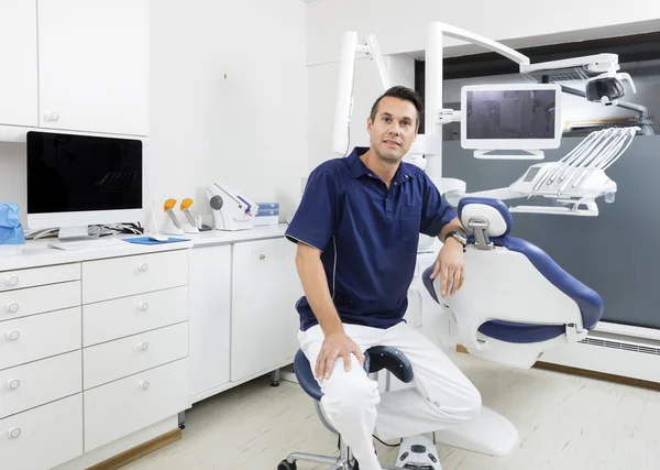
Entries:
{"label": "dark-haired man in navy polo shirt and white trousers on stool", "polygon": [[[298,243],[305,291],[296,306],[300,348],[315,368],[323,409],[361,470],[381,469],[374,427],[382,439],[415,436],[481,409],[461,371],[403,320],[420,232],[444,242],[432,273],[441,276],[442,295],[453,295],[464,280],[463,227],[429,177],[402,162],[422,116],[417,92],[387,90],[367,119],[370,147],[315,168],[286,232]],[[408,357],[415,387],[380,395],[362,368],[363,352],[378,345]]]}

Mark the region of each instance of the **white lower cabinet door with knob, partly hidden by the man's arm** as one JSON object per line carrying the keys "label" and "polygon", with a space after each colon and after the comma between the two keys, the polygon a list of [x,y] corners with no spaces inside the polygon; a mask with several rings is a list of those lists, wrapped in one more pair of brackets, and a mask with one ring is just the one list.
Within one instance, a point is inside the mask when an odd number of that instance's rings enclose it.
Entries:
{"label": "white lower cabinet door with knob, partly hidden by the man's arm", "polygon": [[233,248],[231,380],[267,372],[298,349],[300,297],[296,247],[288,240],[237,243]]}

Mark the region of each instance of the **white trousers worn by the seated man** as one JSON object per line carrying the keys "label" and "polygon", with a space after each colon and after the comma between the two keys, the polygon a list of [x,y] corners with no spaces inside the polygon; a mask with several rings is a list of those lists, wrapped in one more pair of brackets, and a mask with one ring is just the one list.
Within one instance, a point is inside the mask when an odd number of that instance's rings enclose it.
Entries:
{"label": "white trousers worn by the seated man", "polygon": [[[328,419],[351,447],[361,470],[381,470],[372,435],[389,440],[432,433],[475,418],[481,395],[453,362],[431,340],[402,323],[389,329],[344,325],[346,335],[364,352],[373,346],[398,348],[413,364],[415,387],[378,392],[351,354],[351,370],[343,359],[334,363],[330,379],[319,384]],[[323,343],[317,325],[298,334],[300,349],[312,371]]]}

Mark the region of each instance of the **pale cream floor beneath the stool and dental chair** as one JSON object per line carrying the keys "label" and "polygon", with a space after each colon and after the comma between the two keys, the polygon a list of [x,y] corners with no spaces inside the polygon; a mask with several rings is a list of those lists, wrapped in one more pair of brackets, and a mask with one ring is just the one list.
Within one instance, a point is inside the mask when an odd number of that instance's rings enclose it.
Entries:
{"label": "pale cream floor beneath the stool and dental chair", "polygon": [[[438,445],[443,470],[660,469],[660,392],[531,369],[513,370],[458,354],[485,405],[518,429],[508,457]],[[197,403],[183,439],[122,470],[275,470],[292,451],[332,455],[337,438],[320,424],[299,385],[257,379]],[[392,464],[397,448],[381,446]],[[324,466],[300,463],[299,470]]]}

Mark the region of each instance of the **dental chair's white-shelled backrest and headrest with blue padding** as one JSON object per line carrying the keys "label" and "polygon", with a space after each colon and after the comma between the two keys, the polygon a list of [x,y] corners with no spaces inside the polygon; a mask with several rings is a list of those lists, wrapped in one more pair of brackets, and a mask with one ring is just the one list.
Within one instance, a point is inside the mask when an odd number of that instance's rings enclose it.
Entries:
{"label": "dental chair's white-shelled backrest and headrest with blue padding", "polygon": [[[513,217],[496,199],[464,198],[459,205],[464,227],[479,221],[488,245],[471,244],[465,252],[465,283],[454,296],[440,298],[440,277],[429,280],[430,295],[454,313],[462,336],[476,342],[476,330],[491,320],[526,325],[569,325],[590,329],[603,313],[601,297],[562,270],[547,253],[521,239],[508,237]],[[484,222],[486,227],[484,228]]]}

